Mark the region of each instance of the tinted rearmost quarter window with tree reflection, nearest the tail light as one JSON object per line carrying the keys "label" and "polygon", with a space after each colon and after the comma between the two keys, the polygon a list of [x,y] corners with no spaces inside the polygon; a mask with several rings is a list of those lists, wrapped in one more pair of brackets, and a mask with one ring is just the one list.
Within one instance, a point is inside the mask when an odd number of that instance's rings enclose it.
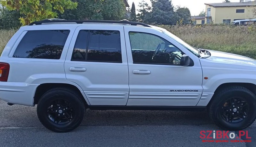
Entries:
{"label": "tinted rearmost quarter window with tree reflection, nearest the tail light", "polygon": [[21,39],[13,57],[60,59],[69,30],[28,31]]}

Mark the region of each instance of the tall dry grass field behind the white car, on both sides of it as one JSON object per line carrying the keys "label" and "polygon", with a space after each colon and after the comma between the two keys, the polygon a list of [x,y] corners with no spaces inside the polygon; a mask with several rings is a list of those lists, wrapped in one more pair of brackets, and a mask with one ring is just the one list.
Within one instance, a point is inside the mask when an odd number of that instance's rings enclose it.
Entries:
{"label": "tall dry grass field behind the white car, on both sides of it", "polygon": [[[192,46],[235,53],[256,59],[256,25],[254,26],[170,26],[161,25]],[[0,30],[0,54],[17,29]]]}

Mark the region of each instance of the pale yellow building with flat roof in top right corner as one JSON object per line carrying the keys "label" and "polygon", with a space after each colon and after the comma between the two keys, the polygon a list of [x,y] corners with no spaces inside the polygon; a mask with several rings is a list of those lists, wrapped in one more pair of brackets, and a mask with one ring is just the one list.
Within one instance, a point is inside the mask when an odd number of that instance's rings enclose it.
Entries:
{"label": "pale yellow building with flat roof in top right corner", "polygon": [[235,3],[205,3],[205,23],[230,24],[240,19],[253,19],[256,16],[256,1],[240,0]]}

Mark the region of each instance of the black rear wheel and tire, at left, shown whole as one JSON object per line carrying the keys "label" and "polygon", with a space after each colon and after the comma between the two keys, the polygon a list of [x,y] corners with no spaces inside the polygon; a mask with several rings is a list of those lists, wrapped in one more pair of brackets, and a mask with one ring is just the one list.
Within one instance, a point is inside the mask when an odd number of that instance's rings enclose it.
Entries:
{"label": "black rear wheel and tire, at left, shown whole", "polygon": [[42,95],[37,104],[37,116],[47,129],[69,132],[76,129],[84,117],[82,97],[68,88],[53,88]]}

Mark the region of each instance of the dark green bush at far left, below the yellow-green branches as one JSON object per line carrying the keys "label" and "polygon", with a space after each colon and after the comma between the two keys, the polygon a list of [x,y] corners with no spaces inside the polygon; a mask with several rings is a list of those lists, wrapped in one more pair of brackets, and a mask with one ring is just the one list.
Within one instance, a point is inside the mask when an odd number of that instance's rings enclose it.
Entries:
{"label": "dark green bush at far left, below the yellow-green branches", "polygon": [[0,29],[20,27],[20,17],[20,12],[17,10],[8,10],[5,7],[0,8]]}

